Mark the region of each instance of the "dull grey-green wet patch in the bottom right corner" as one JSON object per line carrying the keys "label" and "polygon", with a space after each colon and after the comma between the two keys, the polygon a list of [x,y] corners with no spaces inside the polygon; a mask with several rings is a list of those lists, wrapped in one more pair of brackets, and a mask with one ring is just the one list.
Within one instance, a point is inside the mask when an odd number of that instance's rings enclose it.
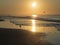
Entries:
{"label": "dull grey-green wet patch in the bottom right corner", "polygon": [[55,45],[60,45],[60,32],[55,30],[55,31],[50,31],[48,34],[47,34],[47,40],[48,42],[51,42]]}

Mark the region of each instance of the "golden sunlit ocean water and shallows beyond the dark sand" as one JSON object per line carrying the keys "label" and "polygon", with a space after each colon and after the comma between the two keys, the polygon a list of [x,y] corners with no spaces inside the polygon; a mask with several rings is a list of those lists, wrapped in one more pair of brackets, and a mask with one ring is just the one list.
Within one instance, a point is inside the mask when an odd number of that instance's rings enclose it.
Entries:
{"label": "golden sunlit ocean water and shallows beyond the dark sand", "polygon": [[[42,20],[41,20],[42,18]],[[25,29],[33,33],[45,33],[44,38],[54,45],[60,45],[60,15],[39,16],[39,19],[9,18],[0,21],[0,28]],[[4,24],[5,23],[5,24]],[[8,24],[8,25],[7,25]],[[14,26],[12,26],[14,25]]]}

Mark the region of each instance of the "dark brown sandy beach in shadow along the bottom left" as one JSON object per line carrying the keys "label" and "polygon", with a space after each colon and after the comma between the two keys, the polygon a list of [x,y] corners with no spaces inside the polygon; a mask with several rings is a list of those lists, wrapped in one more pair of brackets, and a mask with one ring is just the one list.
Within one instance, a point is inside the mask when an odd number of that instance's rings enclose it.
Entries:
{"label": "dark brown sandy beach in shadow along the bottom left", "polygon": [[41,37],[46,37],[46,34],[23,29],[0,28],[0,45],[53,45]]}

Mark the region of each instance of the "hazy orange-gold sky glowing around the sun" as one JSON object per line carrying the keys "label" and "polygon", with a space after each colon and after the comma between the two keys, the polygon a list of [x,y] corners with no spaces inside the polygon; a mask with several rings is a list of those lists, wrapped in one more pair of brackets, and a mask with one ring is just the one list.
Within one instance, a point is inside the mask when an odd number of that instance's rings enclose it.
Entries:
{"label": "hazy orange-gold sky glowing around the sun", "polygon": [[60,14],[60,0],[0,0],[0,14]]}

